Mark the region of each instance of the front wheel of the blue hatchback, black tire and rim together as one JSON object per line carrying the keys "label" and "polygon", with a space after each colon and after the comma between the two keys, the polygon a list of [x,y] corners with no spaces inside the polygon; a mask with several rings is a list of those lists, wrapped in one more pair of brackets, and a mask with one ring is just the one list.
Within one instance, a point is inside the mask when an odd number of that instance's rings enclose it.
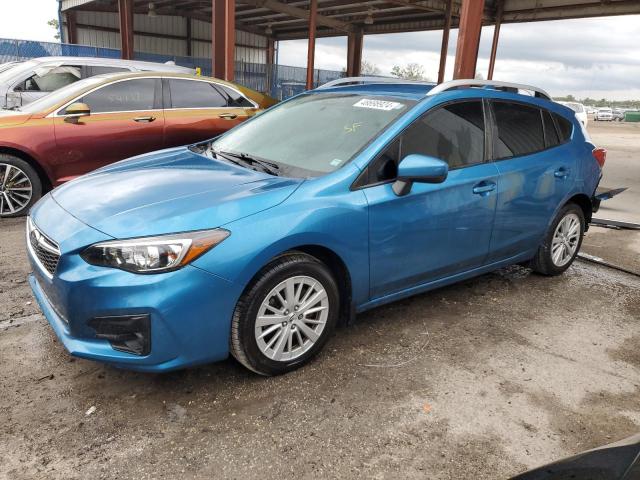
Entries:
{"label": "front wheel of the blue hatchback, black tire and rim together", "polygon": [[326,265],[303,253],[278,257],[261,270],[236,305],[231,354],[260,375],[295,370],[326,344],[339,310],[338,285]]}

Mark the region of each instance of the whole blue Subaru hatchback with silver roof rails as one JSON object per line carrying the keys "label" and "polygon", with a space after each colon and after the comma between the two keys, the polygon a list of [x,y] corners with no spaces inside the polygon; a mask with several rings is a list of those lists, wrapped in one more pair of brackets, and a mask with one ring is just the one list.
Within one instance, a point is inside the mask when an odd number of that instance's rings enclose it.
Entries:
{"label": "whole blue Subaru hatchback with silver roof rails", "polygon": [[604,154],[534,87],[347,80],[55,189],[29,280],[79,357],[279,374],[341,318],[508,264],[562,273]]}

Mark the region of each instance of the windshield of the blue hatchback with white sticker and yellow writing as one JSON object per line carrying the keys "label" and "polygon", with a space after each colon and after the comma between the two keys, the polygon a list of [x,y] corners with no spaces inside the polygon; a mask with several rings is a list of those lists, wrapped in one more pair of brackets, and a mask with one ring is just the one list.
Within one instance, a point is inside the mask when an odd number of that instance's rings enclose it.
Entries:
{"label": "windshield of the blue hatchback with white sticker and yellow writing", "polygon": [[231,130],[214,153],[267,161],[293,177],[342,167],[415,101],[375,95],[304,94]]}

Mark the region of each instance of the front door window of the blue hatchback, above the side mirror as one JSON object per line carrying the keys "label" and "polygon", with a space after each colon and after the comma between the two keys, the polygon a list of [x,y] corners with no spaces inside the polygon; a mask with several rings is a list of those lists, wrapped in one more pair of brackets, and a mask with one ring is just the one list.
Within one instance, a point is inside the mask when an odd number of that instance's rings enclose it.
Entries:
{"label": "front door window of the blue hatchback, above the side mirror", "polygon": [[480,100],[457,102],[428,112],[402,135],[401,158],[429,155],[450,169],[484,161],[484,110]]}

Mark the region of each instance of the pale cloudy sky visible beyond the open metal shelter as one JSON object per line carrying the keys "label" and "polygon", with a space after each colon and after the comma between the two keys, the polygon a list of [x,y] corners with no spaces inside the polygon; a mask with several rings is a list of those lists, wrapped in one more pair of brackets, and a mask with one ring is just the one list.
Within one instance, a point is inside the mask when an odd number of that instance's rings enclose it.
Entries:
{"label": "pale cloudy sky visible beyond the open metal shelter", "polygon": [[[56,0],[2,0],[0,37],[55,41],[47,21],[57,18]],[[449,40],[446,78],[453,73],[457,30]],[[478,72],[486,77],[493,27],[482,29]],[[382,74],[394,65],[418,63],[438,75],[441,31],[365,36],[363,58]],[[502,26],[494,79],[529,83],[554,96],[640,99],[640,15],[507,24]],[[346,37],[319,39],[316,67],[346,67]],[[280,43],[279,62],[305,66],[307,42]]]}

